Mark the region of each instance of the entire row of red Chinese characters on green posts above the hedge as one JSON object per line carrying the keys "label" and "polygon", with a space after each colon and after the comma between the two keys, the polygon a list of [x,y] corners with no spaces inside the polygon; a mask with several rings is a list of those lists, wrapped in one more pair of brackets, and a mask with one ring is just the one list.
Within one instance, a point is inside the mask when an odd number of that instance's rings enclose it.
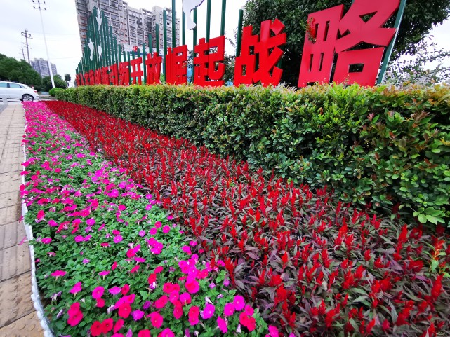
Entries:
{"label": "entire row of red Chinese characters on green posts above the hedge", "polygon": [[[190,13],[192,8],[196,8],[201,2],[203,0],[186,0],[183,2],[183,11]],[[385,54],[383,68],[378,78],[380,82],[392,53],[394,44],[392,39],[395,39],[405,4],[406,0],[355,0],[347,13],[344,13],[344,6],[340,5],[310,14],[303,57],[300,62],[298,86],[330,81],[374,85]],[[386,27],[386,22],[397,10],[395,28]],[[242,13],[239,11],[239,18]],[[225,15],[223,15],[224,18]],[[102,20],[105,20],[106,25],[107,20],[104,15]],[[92,34],[98,31],[102,20],[98,21],[98,27],[95,22],[95,27],[92,23],[90,24],[88,31],[91,35],[89,36],[94,36]],[[224,22],[222,26],[221,36],[209,39],[209,29],[207,29],[206,39],[199,39],[199,43],[193,48],[192,78],[196,85],[217,87],[225,82],[223,81],[225,75]],[[242,29],[240,19],[238,28],[238,33],[242,32],[242,34],[238,34],[240,55],[237,55],[235,60],[234,85],[256,83],[264,86],[278,85],[283,70],[277,67],[277,64],[283,55],[282,46],[286,43],[283,23],[277,19],[265,20],[260,24],[260,33],[253,34],[251,26]],[[105,34],[101,32],[100,41],[102,37],[105,38]],[[173,32],[173,36],[175,35]],[[110,36],[106,38],[110,41],[106,44],[111,46],[108,48],[111,49],[114,46],[113,49],[115,49],[117,40],[112,33],[110,32]],[[152,41],[150,34],[148,39]],[[126,54],[124,52],[122,57],[120,48],[108,50],[109,53],[102,53],[100,45],[95,48],[95,43],[98,44],[96,39],[89,38],[88,41],[84,48],[84,56],[77,67],[77,85],[161,83],[161,66],[164,59],[159,56],[159,44],[157,44],[157,53],[152,53],[150,43],[150,53],[145,54],[146,48],[143,43],[142,57],[140,57],[138,46],[133,46],[134,53],[131,55],[128,53],[128,61],[126,61]],[[195,43],[197,43],[197,37],[194,37]],[[385,53],[387,46],[389,48]],[[169,47],[165,52],[166,83],[174,85],[187,83],[187,46]],[[289,69],[285,70],[289,71]]]}

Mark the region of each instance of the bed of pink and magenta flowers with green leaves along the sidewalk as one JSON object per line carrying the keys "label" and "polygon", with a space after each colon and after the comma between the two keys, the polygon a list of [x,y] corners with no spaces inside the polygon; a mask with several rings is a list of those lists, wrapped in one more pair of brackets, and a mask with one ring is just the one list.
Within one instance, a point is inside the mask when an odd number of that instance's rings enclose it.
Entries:
{"label": "bed of pink and magenta flowers with green leaves along the sidewalk", "polygon": [[266,335],[223,261],[192,254],[198,241],[45,104],[24,106],[21,193],[55,336]]}

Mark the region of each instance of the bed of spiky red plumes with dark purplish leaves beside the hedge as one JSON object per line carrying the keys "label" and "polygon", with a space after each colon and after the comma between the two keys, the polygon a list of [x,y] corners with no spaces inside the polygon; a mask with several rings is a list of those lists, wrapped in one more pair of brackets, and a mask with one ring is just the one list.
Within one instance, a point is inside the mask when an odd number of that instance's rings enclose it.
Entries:
{"label": "bed of spiky red plumes with dark purplish leaves beside the hedge", "polygon": [[133,123],[48,102],[147,186],[211,268],[296,336],[450,333],[449,237],[358,211]]}

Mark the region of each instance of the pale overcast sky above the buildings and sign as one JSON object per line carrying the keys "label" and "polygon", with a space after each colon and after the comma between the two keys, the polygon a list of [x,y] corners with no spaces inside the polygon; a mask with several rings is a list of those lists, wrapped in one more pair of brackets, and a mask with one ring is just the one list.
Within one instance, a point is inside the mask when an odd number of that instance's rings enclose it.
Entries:
{"label": "pale overcast sky above the buildings and sign", "polygon": [[[35,0],[36,2],[36,0]],[[42,1],[41,1],[42,2]],[[211,8],[211,38],[220,34],[220,0],[213,0]],[[245,0],[228,0],[225,35],[234,39],[234,30],[237,28],[239,8],[245,4]],[[153,6],[170,7],[171,0],[128,0],[128,6],[134,8],[151,9]],[[27,58],[25,38],[21,32],[28,29],[32,34],[29,41],[29,56],[46,59],[44,36],[42,34],[39,11],[33,9],[32,0],[0,0],[0,53],[20,60],[22,46]],[[181,0],[176,0],[176,13],[180,18]],[[47,37],[48,53],[52,63],[56,64],[58,74],[70,74],[72,81],[75,68],[81,60],[81,43],[78,33],[77,13],[74,0],[46,0],[47,11],[42,12],[44,29]],[[199,7],[199,25],[197,39],[206,34],[206,1]],[[440,48],[450,50],[450,20],[433,29],[432,34]],[[186,42],[192,49],[192,32],[187,31]],[[227,46],[227,52],[231,53],[231,46]],[[450,64],[450,60],[449,60]]]}

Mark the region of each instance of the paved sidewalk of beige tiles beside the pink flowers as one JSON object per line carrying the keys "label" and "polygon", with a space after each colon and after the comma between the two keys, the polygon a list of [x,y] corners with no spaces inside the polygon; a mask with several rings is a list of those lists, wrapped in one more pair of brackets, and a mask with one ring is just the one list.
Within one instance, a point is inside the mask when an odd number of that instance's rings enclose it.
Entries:
{"label": "paved sidewalk of beige tiles beside the pink flowers", "polygon": [[31,299],[31,265],[22,203],[22,104],[0,107],[0,337],[43,336]]}

